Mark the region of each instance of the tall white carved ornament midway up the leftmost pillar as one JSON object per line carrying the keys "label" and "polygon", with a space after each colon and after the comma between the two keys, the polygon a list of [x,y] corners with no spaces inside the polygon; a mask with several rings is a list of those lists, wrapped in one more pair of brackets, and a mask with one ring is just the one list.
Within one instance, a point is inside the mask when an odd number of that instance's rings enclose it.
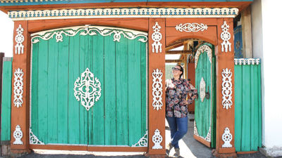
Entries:
{"label": "tall white carved ornament midway up the leftmost pillar", "polygon": [[21,107],[23,105],[23,70],[18,68],[14,72],[13,82],[13,104],[15,107]]}

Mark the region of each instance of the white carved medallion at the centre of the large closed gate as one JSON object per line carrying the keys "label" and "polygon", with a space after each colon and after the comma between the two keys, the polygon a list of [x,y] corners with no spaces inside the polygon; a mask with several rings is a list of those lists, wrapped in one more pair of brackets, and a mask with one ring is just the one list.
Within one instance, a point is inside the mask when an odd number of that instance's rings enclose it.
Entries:
{"label": "white carved medallion at the centre of the large closed gate", "polygon": [[87,111],[101,97],[101,83],[97,77],[94,79],[94,74],[88,68],[86,68],[85,72],[82,72],[81,77],[75,80],[74,85],[75,98],[78,101],[81,100],[81,105]]}

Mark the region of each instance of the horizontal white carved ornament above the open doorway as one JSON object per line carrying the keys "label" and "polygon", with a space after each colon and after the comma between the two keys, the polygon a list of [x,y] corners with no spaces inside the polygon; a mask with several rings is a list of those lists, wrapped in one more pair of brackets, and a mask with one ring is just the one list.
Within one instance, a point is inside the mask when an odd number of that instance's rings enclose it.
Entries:
{"label": "horizontal white carved ornament above the open doorway", "polygon": [[176,25],[176,30],[180,32],[199,32],[207,30],[207,25],[204,25],[203,23],[180,23],[179,25]]}

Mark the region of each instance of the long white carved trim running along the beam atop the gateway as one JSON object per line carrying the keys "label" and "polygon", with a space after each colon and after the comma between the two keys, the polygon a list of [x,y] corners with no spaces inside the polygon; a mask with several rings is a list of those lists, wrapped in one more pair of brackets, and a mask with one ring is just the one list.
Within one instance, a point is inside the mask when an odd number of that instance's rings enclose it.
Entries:
{"label": "long white carved trim running along the beam atop the gateway", "polygon": [[238,8],[87,8],[8,11],[13,20],[67,18],[235,18]]}

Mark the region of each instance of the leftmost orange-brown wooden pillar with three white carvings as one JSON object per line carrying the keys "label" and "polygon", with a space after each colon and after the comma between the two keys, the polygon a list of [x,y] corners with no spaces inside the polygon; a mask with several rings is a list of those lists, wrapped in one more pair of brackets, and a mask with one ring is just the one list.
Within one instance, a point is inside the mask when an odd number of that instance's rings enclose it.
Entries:
{"label": "leftmost orange-brown wooden pillar with three white carvings", "polygon": [[16,21],[13,31],[11,97],[11,152],[29,152],[30,34],[27,21]]}

